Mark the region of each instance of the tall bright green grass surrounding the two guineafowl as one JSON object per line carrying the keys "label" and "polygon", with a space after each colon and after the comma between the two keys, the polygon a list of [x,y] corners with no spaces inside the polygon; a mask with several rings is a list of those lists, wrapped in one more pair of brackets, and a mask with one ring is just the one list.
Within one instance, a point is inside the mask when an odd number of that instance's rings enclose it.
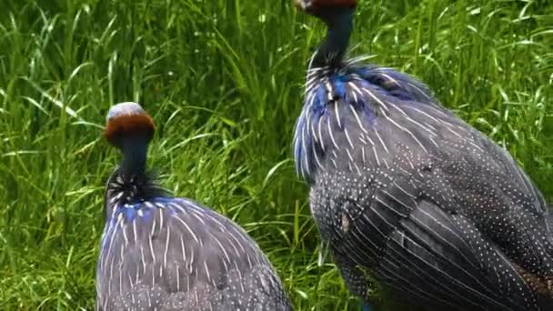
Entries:
{"label": "tall bright green grass surrounding the two guineafowl", "polygon": [[[483,5],[484,4],[484,5]],[[553,201],[553,4],[365,1],[354,55],[417,75]],[[110,105],[155,118],[164,186],[254,236],[298,310],[357,307],[319,258],[291,142],[324,33],[291,0],[0,3],[0,309],[91,309]]]}

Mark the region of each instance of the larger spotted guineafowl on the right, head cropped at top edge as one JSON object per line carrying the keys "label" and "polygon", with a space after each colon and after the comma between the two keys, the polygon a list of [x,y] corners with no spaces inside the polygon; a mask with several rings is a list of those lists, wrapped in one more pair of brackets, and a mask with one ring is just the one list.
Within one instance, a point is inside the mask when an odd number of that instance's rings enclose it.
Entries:
{"label": "larger spotted guineafowl on the right, head cropped at top edge", "polygon": [[417,78],[347,57],[356,0],[295,6],[327,26],[297,175],[350,292],[366,309],[377,283],[424,310],[553,310],[551,216],[513,157]]}

